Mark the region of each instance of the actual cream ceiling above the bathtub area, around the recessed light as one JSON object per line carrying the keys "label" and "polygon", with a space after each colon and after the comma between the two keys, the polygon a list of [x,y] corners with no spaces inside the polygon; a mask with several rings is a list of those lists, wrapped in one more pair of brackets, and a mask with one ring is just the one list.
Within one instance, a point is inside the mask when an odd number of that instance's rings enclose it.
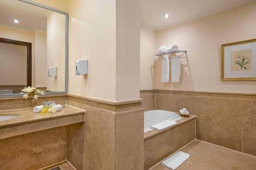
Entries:
{"label": "actual cream ceiling above the bathtub area, around the recessed light", "polygon": [[[249,3],[253,0],[140,0],[141,24],[161,30]],[[165,13],[171,15],[166,19]]]}

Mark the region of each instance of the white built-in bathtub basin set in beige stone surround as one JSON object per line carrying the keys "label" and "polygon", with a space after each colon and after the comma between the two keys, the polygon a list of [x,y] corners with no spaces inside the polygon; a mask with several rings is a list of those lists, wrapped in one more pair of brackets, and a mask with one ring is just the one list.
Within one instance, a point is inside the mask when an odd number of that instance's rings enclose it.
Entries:
{"label": "white built-in bathtub basin set in beige stone surround", "polygon": [[144,133],[147,131],[151,131],[151,125],[158,124],[163,122],[164,120],[172,120],[176,121],[181,119],[182,117],[179,114],[171,111],[165,110],[151,110],[144,112]]}

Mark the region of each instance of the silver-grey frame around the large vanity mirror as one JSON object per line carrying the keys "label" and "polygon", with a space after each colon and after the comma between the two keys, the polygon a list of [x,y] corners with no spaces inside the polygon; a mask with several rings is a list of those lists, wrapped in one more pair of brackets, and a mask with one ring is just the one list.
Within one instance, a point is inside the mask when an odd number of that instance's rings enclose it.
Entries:
{"label": "silver-grey frame around the large vanity mirror", "polygon": [[[39,3],[35,3],[31,0],[17,0],[17,1],[20,1],[20,2],[24,2],[24,3],[27,3],[27,4],[31,4],[31,5],[34,5],[34,6],[37,6],[37,7],[41,7],[41,8],[45,8],[45,9],[48,9],[48,10],[51,10],[51,11],[54,11],[54,12],[57,12],[57,13],[60,13],[60,14],[63,14],[65,15],[66,19],[66,23],[65,23],[65,91],[59,91],[59,92],[55,92],[55,91],[50,91],[50,92],[47,92],[45,93],[44,95],[53,95],[53,94],[67,94],[68,93],[68,55],[69,55],[69,14],[67,12],[64,12],[64,11],[60,11],[60,10],[57,10],[55,8],[52,8],[52,7],[48,7],[46,5],[42,5],[42,4],[39,4]],[[0,95],[0,98],[7,98],[7,97],[20,97],[20,96],[23,96],[23,94],[19,94],[19,93],[12,93],[12,94],[1,94]]]}

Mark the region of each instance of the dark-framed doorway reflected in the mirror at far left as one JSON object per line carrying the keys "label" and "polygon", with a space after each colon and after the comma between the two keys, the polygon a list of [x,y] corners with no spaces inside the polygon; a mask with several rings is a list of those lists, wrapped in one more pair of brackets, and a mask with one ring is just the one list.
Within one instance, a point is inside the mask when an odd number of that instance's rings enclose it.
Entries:
{"label": "dark-framed doorway reflected in the mirror at far left", "polygon": [[19,93],[31,86],[30,42],[0,38],[0,93]]}

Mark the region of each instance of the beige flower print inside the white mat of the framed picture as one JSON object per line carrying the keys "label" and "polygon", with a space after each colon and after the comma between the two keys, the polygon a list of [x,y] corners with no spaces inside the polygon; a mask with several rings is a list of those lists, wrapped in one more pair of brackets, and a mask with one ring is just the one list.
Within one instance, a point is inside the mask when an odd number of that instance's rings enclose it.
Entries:
{"label": "beige flower print inside the white mat of the framed picture", "polygon": [[232,71],[251,70],[251,50],[232,52]]}

